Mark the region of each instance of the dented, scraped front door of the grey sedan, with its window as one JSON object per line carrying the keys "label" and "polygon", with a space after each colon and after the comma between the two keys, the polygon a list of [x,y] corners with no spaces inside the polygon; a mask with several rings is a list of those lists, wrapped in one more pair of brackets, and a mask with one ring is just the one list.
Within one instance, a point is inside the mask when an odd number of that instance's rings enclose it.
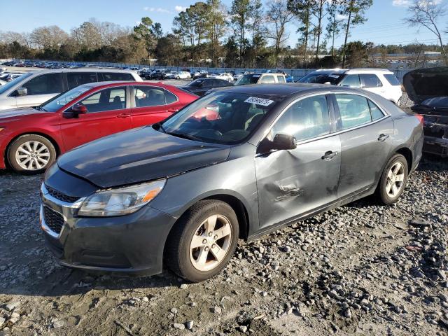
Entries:
{"label": "dented, scraped front door of the grey sedan, with its window", "polygon": [[297,148],[258,153],[255,158],[260,228],[336,200],[341,141],[339,135],[332,135],[331,120],[325,95],[302,98],[284,111],[262,141],[288,134],[297,140]]}

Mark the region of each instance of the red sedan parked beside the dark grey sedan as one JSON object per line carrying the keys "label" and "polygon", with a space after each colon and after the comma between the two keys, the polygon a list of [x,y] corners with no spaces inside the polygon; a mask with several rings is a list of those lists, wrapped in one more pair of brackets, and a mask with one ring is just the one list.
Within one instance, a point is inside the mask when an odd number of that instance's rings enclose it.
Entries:
{"label": "red sedan parked beside the dark grey sedan", "polygon": [[158,123],[197,99],[162,83],[89,83],[27,109],[0,111],[0,169],[41,172],[57,155]]}

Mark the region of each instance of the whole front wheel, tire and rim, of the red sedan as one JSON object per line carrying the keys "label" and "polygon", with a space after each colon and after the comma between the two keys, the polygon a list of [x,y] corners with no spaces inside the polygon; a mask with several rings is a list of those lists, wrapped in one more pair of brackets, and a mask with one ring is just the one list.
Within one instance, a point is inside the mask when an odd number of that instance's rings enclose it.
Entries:
{"label": "whole front wheel, tire and rim, of the red sedan", "polygon": [[[30,153],[30,154],[29,154]],[[41,173],[56,160],[55,146],[45,137],[26,134],[8,146],[8,163],[15,172]]]}

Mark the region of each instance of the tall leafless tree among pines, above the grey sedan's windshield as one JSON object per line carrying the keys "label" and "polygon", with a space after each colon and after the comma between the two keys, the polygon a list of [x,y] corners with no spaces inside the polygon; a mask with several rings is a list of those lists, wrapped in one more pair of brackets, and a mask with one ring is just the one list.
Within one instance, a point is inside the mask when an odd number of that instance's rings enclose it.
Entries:
{"label": "tall leafless tree among pines, above the grey sedan's windshield", "polygon": [[285,32],[286,24],[291,22],[293,18],[293,12],[288,10],[286,0],[274,0],[269,2],[267,22],[273,26],[273,29],[269,32],[268,37],[274,40],[276,64],[279,57],[280,48],[289,37],[289,35]]}

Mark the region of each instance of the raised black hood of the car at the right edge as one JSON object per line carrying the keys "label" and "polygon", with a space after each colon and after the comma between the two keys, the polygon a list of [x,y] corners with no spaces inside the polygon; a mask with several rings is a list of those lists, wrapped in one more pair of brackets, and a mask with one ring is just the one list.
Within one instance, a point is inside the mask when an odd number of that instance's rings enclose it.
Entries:
{"label": "raised black hood of the car at the right edge", "polygon": [[[448,66],[416,69],[405,73],[405,76],[403,77],[403,85],[405,86],[407,95],[409,96],[409,99],[416,104],[440,104],[440,100],[437,102],[437,99],[428,99],[448,97],[447,83]],[[444,102],[448,102],[448,99],[445,99]],[[444,107],[446,108],[447,106]]]}

